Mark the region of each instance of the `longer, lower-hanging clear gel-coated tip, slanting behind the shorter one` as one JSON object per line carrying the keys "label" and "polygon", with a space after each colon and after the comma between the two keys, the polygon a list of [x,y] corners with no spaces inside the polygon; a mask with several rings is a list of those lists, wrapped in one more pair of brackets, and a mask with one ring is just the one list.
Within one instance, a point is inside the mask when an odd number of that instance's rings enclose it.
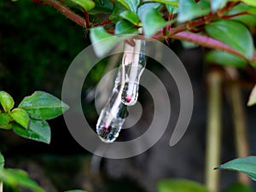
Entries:
{"label": "longer, lower-hanging clear gel-coated tip, slanting behind the shorter one", "polygon": [[96,124],[97,135],[105,143],[113,143],[119,136],[119,131],[125,122],[127,113],[126,106],[121,101],[122,90],[124,89],[124,69],[119,68],[119,73],[115,79],[112,96],[106,106],[102,109]]}

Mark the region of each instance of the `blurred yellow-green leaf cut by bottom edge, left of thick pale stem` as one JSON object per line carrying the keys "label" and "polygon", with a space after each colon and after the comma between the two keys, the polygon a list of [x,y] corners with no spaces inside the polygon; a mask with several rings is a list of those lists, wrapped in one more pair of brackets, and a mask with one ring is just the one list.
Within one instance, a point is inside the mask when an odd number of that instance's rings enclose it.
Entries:
{"label": "blurred yellow-green leaf cut by bottom edge, left of thick pale stem", "polygon": [[186,179],[163,179],[157,183],[158,192],[208,192],[201,183]]}

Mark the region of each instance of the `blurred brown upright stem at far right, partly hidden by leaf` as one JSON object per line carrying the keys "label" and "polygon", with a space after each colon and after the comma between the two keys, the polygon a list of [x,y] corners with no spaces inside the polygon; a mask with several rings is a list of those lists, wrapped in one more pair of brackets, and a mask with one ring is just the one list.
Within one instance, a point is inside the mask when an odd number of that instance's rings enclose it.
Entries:
{"label": "blurred brown upright stem at far right, partly hidden by leaf", "polygon": [[[236,68],[226,67],[226,71],[233,81],[239,78]],[[238,157],[246,157],[249,154],[249,144],[247,142],[247,123],[240,85],[236,83],[231,84],[229,93],[235,125],[236,154]],[[250,179],[244,173],[239,173],[239,181],[245,184],[250,183]]]}

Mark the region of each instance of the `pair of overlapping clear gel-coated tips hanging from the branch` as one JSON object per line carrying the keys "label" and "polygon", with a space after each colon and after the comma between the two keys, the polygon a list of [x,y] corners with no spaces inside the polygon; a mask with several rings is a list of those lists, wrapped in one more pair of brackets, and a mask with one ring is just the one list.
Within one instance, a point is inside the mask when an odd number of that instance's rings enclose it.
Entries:
{"label": "pair of overlapping clear gel-coated tips hanging from the branch", "polygon": [[137,102],[139,80],[146,65],[145,41],[131,39],[125,43],[119,73],[114,82],[112,96],[102,109],[96,132],[105,143],[113,143],[119,136],[127,116],[127,106]]}

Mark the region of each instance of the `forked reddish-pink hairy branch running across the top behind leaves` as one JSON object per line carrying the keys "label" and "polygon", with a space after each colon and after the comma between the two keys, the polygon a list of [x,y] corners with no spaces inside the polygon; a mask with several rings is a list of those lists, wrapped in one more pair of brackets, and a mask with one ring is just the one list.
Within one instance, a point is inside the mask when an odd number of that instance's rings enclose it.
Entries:
{"label": "forked reddish-pink hairy branch running across the top behind leaves", "polygon": [[[61,4],[59,1],[57,1],[57,0],[41,0],[41,1],[45,4],[49,4],[50,6],[54,7],[55,9],[59,10],[63,15],[66,15],[67,18],[69,18],[70,20],[73,20],[80,26],[84,26],[84,27],[89,26],[88,18],[86,18],[86,20],[84,20],[84,18],[80,17],[79,15],[76,15],[72,10],[68,9],[65,5]],[[204,47],[208,47],[208,48],[212,48],[212,49],[221,49],[221,50],[227,51],[231,54],[238,55],[241,58],[249,61],[245,55],[242,55],[236,49],[233,49],[230,46],[228,46],[227,44],[223,44],[222,42],[219,42],[216,39],[197,35],[197,34],[190,33],[190,32],[184,32],[184,31],[191,30],[191,29],[193,31],[193,28],[195,28],[196,26],[206,25],[207,23],[211,22],[212,20],[230,19],[231,17],[235,17],[238,15],[246,15],[247,14],[246,12],[241,12],[236,15],[229,15],[229,16],[225,15],[230,9],[235,7],[237,4],[238,3],[230,2],[230,3],[227,3],[227,6],[224,7],[224,9],[218,10],[218,12],[215,14],[210,13],[209,15],[202,16],[201,19],[199,19],[199,20],[194,20],[191,22],[188,21],[188,22],[183,23],[180,26],[176,26],[176,27],[172,27],[172,28],[166,27],[169,29],[169,33],[166,38],[176,38],[176,39],[180,39],[180,40],[186,40],[189,42],[193,42],[195,44],[200,44]],[[107,21],[107,23],[103,23],[103,24],[104,25],[108,24],[108,21]],[[164,33],[166,33],[166,32],[164,32]],[[154,37],[152,37],[152,38],[156,38],[156,39],[163,38],[163,33],[159,32],[159,33],[155,34]],[[251,61],[256,62],[256,53],[254,53],[253,59]]]}

